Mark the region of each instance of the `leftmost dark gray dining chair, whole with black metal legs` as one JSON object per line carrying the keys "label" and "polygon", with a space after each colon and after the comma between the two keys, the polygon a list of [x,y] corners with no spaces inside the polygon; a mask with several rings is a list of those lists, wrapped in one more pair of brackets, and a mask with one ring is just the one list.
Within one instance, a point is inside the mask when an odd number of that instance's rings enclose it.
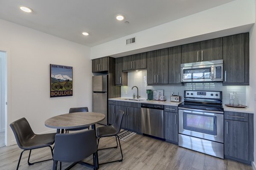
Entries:
{"label": "leftmost dark gray dining chair, whole with black metal legs", "polygon": [[[47,159],[47,160],[37,161],[32,163],[29,162],[31,150],[42,148],[42,147],[49,147],[52,153],[51,145],[54,143],[56,133],[47,133],[47,134],[40,134],[40,135],[35,134],[32,128],[30,127],[29,122],[24,117],[16,120],[15,122],[12,122],[10,124],[10,127],[12,128],[12,131],[14,133],[17,145],[20,147],[20,149],[23,149],[23,151],[20,153],[20,158],[19,158],[16,170],[18,170],[19,168],[20,159],[25,150],[29,150],[29,158],[28,158],[29,165],[52,160],[52,159]],[[52,153],[52,156],[53,156],[53,153]]]}

